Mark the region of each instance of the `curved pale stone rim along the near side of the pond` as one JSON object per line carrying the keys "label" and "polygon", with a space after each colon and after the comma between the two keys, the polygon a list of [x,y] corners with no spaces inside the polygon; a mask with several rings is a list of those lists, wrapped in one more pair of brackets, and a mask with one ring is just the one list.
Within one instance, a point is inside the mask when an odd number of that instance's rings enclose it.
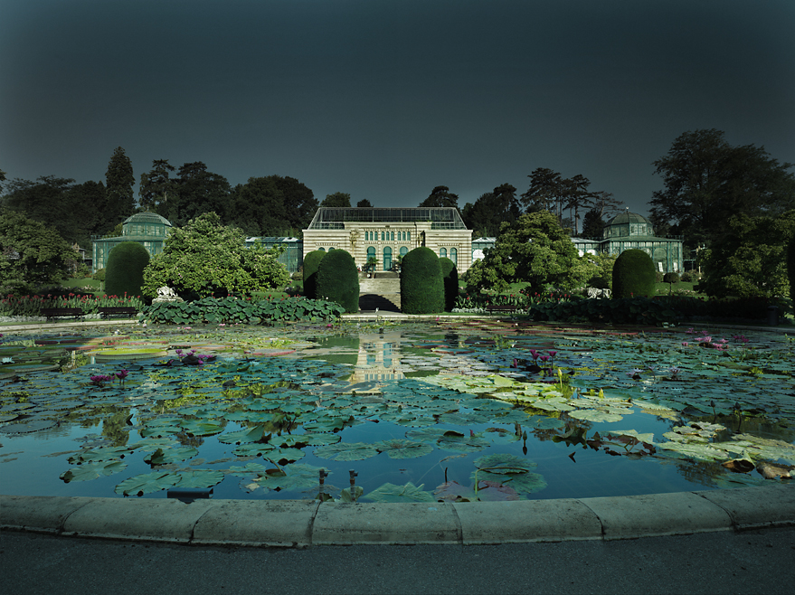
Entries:
{"label": "curved pale stone rim along the near side of the pond", "polygon": [[786,526],[795,526],[791,483],[460,504],[0,496],[0,530],[195,545],[610,541]]}

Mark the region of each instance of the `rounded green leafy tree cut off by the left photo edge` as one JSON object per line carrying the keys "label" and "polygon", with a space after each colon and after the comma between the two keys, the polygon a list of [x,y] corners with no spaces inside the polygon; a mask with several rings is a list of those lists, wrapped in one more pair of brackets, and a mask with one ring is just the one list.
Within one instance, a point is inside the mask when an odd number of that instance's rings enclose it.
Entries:
{"label": "rounded green leafy tree cut off by the left photo edge", "polygon": [[79,258],[52,227],[0,209],[0,292],[19,294],[59,283]]}

